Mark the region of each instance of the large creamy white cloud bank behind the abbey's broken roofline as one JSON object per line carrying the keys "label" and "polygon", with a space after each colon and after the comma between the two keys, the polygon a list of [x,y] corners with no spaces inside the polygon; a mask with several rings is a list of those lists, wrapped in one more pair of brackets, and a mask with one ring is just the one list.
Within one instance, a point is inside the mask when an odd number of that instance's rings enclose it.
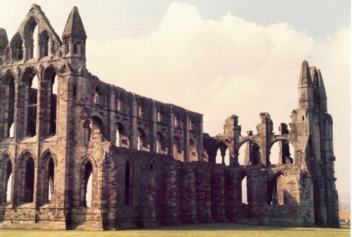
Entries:
{"label": "large creamy white cloud bank behind the abbey's broken roofline", "polygon": [[144,37],[88,41],[87,62],[105,82],[203,113],[204,132],[215,135],[232,114],[242,134],[256,129],[260,112],[272,115],[275,129],[290,122],[308,59],[325,78],[335,144],[346,145],[336,146],[337,159],[349,162],[349,32],[318,41],[288,23],[263,26],[230,13],[204,20],[195,6],[174,3]]}

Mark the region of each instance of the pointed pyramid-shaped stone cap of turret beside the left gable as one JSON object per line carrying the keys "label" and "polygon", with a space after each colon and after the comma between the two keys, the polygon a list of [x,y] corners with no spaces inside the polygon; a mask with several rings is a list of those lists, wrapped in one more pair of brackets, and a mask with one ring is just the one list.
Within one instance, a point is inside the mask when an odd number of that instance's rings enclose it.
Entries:
{"label": "pointed pyramid-shaped stone cap of turret beside the left gable", "polygon": [[80,13],[78,12],[77,6],[74,6],[63,30],[63,37],[65,36],[79,37],[80,39],[87,39],[87,34],[84,30]]}

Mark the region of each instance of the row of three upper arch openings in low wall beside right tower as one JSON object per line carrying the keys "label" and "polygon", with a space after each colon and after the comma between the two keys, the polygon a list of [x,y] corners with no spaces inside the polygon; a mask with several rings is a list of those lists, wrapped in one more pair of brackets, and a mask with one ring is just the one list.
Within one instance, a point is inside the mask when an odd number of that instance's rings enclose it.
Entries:
{"label": "row of three upper arch openings in low wall beside right tower", "polygon": [[[292,158],[294,153],[294,146],[289,141],[284,139],[276,140],[270,145],[270,157],[268,158],[268,161],[274,161],[276,158],[276,164],[294,164],[294,159]],[[239,165],[258,165],[260,164],[260,157],[260,146],[255,141],[247,140],[239,144],[237,155]],[[230,158],[231,154],[228,146],[225,143],[220,142],[216,150],[214,162],[230,165]]]}

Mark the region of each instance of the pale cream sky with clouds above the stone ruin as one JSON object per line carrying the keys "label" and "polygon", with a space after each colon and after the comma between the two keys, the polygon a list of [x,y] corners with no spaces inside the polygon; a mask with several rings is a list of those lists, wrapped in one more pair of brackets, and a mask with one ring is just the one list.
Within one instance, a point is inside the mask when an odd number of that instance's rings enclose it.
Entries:
{"label": "pale cream sky with clouds above the stone ruin", "polygon": [[[32,1],[0,2],[9,39]],[[334,119],[340,197],[350,193],[351,3],[271,1],[36,1],[61,36],[73,6],[87,32],[87,68],[102,81],[203,114],[222,133],[239,116],[242,135],[261,112],[275,132],[298,107],[303,60],[322,71]],[[6,9],[6,11],[2,11]]]}

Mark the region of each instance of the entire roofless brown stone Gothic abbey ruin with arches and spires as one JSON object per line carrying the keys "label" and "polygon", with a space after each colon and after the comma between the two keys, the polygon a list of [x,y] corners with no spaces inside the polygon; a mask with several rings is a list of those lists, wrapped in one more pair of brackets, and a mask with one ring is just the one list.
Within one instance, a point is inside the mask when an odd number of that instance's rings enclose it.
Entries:
{"label": "entire roofless brown stone Gothic abbey ruin with arches and spires", "polygon": [[279,134],[260,113],[256,132],[232,115],[210,137],[201,114],[92,75],[86,39],[76,7],[61,38],[35,4],[10,41],[0,29],[1,228],[339,227],[320,70],[302,63],[298,108]]}

